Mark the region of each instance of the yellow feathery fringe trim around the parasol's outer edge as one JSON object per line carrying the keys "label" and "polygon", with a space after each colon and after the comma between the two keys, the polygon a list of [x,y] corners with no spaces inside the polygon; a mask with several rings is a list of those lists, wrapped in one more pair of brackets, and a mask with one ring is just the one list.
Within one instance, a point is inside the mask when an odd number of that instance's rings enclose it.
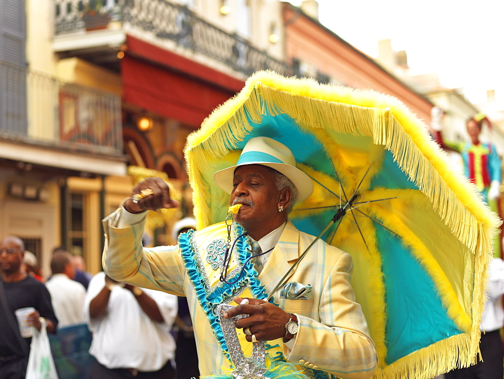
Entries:
{"label": "yellow feathery fringe trim around the parasol's outer edge", "polygon": [[[374,144],[392,152],[398,166],[429,199],[453,235],[475,254],[473,314],[470,320],[456,321],[469,333],[420,349],[373,376],[428,378],[454,367],[472,364],[478,351],[491,239],[500,220],[482,202],[474,185],[450,169],[446,154],[432,141],[426,126],[396,98],[370,90],[320,85],[311,79],[285,78],[267,71],[254,74],[239,94],[218,107],[203,122],[201,129],[187,138],[184,152],[188,176],[195,191],[198,227],[211,224],[212,213],[211,206],[205,201],[210,198],[210,184],[205,182],[202,173],[213,171],[212,163],[234,149],[253,129],[249,120],[253,124],[260,123],[266,113],[288,114],[311,133],[316,133],[318,128],[327,128],[337,133],[369,136]],[[330,141],[324,143],[326,146],[331,144]],[[348,178],[348,175],[343,176]],[[424,249],[415,241],[412,244],[422,264],[433,265]],[[381,265],[380,262],[374,264]],[[438,269],[431,268],[434,272]],[[444,288],[442,275],[434,275],[434,280]],[[380,278],[374,278],[373,282],[380,282]],[[444,304],[455,303],[450,296],[446,295]],[[383,315],[382,305],[374,312]],[[455,314],[458,311],[449,307],[448,312]],[[376,329],[385,330],[385,327],[377,326]],[[384,346],[385,343],[380,349]],[[444,353],[439,354],[440,351]],[[382,358],[385,356],[383,352],[379,354]]]}

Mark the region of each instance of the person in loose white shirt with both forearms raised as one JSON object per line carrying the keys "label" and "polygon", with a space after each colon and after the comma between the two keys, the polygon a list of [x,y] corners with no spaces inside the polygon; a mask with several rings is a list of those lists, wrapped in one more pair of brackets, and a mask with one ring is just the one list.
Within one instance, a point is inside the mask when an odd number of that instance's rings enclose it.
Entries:
{"label": "person in loose white shirt with both forearms raised", "polygon": [[84,311],[96,358],[90,379],[174,379],[175,341],[170,329],[177,297],[118,283],[101,272],[89,282]]}

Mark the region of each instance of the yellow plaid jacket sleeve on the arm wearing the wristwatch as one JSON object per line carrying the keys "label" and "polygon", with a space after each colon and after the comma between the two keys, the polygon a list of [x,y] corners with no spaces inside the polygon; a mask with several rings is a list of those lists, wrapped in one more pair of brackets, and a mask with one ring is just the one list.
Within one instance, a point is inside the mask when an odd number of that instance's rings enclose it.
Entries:
{"label": "yellow plaid jacket sleeve on the arm wearing the wristwatch", "polygon": [[352,267],[351,256],[343,253],[324,285],[320,321],[298,315],[290,362],[309,361],[341,378],[368,378],[377,368],[376,348],[350,285]]}

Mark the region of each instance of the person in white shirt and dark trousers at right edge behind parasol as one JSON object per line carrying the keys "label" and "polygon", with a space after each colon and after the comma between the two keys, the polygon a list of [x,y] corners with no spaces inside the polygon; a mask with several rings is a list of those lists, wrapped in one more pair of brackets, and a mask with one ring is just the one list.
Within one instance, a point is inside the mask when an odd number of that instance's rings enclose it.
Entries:
{"label": "person in white shirt and dark trousers at right edge behind parasol", "polygon": [[502,379],[504,375],[504,347],[500,337],[500,328],[504,324],[502,295],[504,295],[504,261],[493,258],[490,262],[487,298],[479,327],[481,330],[479,347],[483,360],[474,366],[446,373],[446,379]]}

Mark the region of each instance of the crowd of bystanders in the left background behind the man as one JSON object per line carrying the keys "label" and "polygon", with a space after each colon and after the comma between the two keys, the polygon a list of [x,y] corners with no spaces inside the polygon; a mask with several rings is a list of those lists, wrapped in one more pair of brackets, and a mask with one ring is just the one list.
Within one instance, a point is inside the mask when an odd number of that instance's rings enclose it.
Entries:
{"label": "crowd of bystanders in the left background behind the man", "polygon": [[[174,225],[178,230],[173,236],[195,226],[194,219],[182,219]],[[30,351],[33,329],[45,328],[57,336],[75,326],[87,326],[92,335],[92,364],[80,367],[79,378],[175,379],[176,341],[184,357],[177,358],[190,363],[179,365],[178,377],[199,376],[191,318],[183,298],[119,283],[104,272],[93,276],[86,272],[81,256],[63,247],[53,249],[51,275],[44,281],[36,256],[16,236],[0,241],[0,256],[2,379],[31,375],[26,373],[29,356],[39,354]],[[20,337],[18,324],[21,333],[24,327],[31,334]],[[59,378],[64,379],[68,373],[58,368]]]}

